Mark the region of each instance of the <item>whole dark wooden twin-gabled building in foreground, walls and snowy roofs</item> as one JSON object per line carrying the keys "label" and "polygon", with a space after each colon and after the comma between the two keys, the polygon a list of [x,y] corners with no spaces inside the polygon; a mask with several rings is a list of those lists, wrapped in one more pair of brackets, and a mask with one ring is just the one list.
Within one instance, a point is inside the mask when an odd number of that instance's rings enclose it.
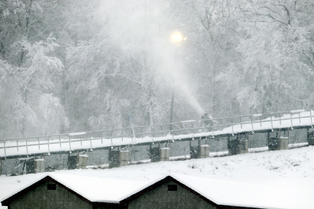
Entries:
{"label": "whole dark wooden twin-gabled building in foreground, walls and snowy roofs", "polygon": [[170,174],[150,183],[50,174],[8,194],[8,209],[311,208],[312,191]]}

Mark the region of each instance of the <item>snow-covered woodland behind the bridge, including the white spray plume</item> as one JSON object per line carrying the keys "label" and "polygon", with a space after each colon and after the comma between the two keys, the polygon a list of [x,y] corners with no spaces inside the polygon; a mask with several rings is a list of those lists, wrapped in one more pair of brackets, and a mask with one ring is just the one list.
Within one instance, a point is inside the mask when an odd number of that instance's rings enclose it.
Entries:
{"label": "snow-covered woodland behind the bridge, including the white spray plume", "polygon": [[[313,108],[314,2],[0,0],[0,138]],[[180,31],[185,41],[171,42]]]}

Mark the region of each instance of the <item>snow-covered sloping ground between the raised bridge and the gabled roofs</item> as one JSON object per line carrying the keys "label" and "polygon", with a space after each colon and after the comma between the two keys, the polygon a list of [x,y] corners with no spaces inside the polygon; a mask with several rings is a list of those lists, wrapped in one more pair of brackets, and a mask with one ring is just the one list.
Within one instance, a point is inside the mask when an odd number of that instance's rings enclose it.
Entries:
{"label": "snow-covered sloping ground between the raised bridge and the gabled roofs", "polygon": [[[257,189],[270,186],[274,188],[274,191],[276,188],[306,191],[296,192],[297,195],[293,201],[297,203],[300,199],[306,199],[300,198],[300,196],[309,192],[311,195],[314,193],[314,146],[207,159],[128,165],[112,169],[58,170],[53,173],[147,182],[168,173],[177,173],[214,180],[227,180],[240,183],[240,185],[241,183],[243,185],[253,184]],[[38,179],[40,175],[44,174],[1,176],[0,200],[3,200],[9,193]],[[252,194],[252,198],[254,198],[254,194]],[[274,204],[276,203],[276,198],[270,199]],[[309,199],[309,202],[302,205],[303,209],[313,208],[313,201],[311,198]],[[298,204],[283,208],[300,208],[296,205]],[[6,207],[0,206],[0,208]]]}

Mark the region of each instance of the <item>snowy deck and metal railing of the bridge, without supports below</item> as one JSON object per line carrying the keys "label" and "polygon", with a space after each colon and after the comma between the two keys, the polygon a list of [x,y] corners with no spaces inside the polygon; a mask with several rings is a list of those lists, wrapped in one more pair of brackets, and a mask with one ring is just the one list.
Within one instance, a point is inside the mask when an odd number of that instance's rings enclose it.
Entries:
{"label": "snowy deck and metal railing of the bridge, without supports below", "polygon": [[[165,123],[147,126],[137,126],[128,128],[116,128],[99,131],[64,133],[49,136],[36,136],[12,139],[0,139],[0,156],[16,155],[20,149],[26,149],[26,154],[30,152],[30,148],[36,148],[38,151],[44,149],[48,153],[56,149],[73,150],[73,146],[78,148],[86,143],[89,148],[93,148],[96,140],[104,146],[113,146],[113,139],[120,138],[121,141],[127,143],[137,143],[136,139],[149,138],[154,142],[156,138],[159,140],[167,140],[174,138],[173,136],[206,133],[214,137],[215,134],[237,133],[241,131],[252,131],[273,128],[293,128],[294,125],[308,125],[313,127],[311,110],[294,110],[285,112],[274,112],[265,114],[254,114],[245,116],[235,116],[215,119],[202,119],[181,121],[176,123]],[[301,123],[302,120],[302,123]],[[133,141],[134,140],[134,141]],[[108,143],[109,141],[109,143]],[[72,147],[71,147],[72,145]],[[53,147],[53,150],[51,150]]]}

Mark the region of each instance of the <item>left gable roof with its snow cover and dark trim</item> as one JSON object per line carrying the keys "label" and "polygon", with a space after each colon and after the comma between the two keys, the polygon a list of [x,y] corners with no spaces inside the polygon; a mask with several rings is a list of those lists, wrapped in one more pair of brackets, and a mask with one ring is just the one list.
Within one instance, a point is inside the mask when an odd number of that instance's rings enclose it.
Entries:
{"label": "left gable roof with its snow cover and dark trim", "polygon": [[147,182],[128,181],[116,179],[104,179],[77,175],[64,174],[48,174],[41,176],[39,180],[35,180],[25,185],[18,191],[8,194],[3,205],[33,190],[46,181],[51,180],[72,194],[78,196],[82,200],[92,204],[92,202],[119,203],[123,196],[134,191],[138,187],[146,185]]}

